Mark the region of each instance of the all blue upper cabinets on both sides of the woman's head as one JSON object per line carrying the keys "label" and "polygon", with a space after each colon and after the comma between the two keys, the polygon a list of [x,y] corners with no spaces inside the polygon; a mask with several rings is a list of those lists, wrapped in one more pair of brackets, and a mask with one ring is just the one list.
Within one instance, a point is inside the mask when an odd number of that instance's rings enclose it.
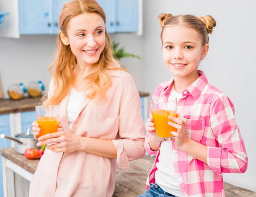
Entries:
{"label": "all blue upper cabinets on both sides of the woman's head", "polygon": [[[58,34],[58,19],[70,0],[19,0],[20,34]],[[108,33],[137,32],[139,0],[97,0],[106,14]]]}

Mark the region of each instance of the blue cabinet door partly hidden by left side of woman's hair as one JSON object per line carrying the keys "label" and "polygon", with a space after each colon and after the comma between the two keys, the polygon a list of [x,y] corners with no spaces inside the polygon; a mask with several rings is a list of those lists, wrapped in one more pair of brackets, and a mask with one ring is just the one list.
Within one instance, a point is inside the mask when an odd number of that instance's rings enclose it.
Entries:
{"label": "blue cabinet door partly hidden by left side of woman's hair", "polygon": [[61,10],[63,5],[70,0],[52,0],[52,26],[53,26],[53,34],[58,34],[60,28],[58,26],[58,19],[61,15]]}

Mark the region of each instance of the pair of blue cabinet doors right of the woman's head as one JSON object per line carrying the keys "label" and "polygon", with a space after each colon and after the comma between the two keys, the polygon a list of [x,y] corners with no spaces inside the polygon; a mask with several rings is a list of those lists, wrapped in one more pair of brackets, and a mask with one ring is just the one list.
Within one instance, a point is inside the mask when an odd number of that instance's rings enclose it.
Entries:
{"label": "pair of blue cabinet doors right of the woman's head", "polygon": [[108,33],[138,31],[138,0],[97,0],[97,2],[99,2],[106,14]]}

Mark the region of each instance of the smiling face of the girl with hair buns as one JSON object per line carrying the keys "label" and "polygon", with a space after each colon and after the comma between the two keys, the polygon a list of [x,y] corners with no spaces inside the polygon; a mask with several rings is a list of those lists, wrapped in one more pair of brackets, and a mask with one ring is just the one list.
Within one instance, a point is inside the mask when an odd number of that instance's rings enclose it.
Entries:
{"label": "smiling face of the girl with hair buns", "polygon": [[166,26],[162,34],[163,59],[174,77],[197,77],[198,63],[209,45],[202,46],[200,35],[186,26]]}

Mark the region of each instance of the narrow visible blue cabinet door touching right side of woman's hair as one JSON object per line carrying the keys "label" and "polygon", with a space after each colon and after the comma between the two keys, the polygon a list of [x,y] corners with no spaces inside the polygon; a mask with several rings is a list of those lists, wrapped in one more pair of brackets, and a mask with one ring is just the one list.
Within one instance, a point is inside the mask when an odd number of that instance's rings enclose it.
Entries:
{"label": "narrow visible blue cabinet door touching right side of woman's hair", "polygon": [[106,29],[115,33],[115,0],[97,0],[106,14]]}

